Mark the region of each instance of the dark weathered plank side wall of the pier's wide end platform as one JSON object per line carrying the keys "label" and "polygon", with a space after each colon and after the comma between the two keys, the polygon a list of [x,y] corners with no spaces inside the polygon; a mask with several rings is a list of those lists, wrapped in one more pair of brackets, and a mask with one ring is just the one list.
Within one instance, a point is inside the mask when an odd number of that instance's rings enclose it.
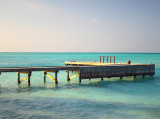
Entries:
{"label": "dark weathered plank side wall of the pier's wide end platform", "polygon": [[155,65],[109,65],[85,67],[80,70],[82,79],[154,75]]}

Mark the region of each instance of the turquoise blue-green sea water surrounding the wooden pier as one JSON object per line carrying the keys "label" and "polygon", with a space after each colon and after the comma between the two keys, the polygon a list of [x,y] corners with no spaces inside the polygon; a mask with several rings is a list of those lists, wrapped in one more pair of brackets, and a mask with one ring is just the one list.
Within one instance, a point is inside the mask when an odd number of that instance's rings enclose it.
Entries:
{"label": "turquoise blue-green sea water surrounding the wooden pier", "polygon": [[[116,56],[116,62],[154,63],[154,77],[132,77],[66,81],[58,73],[59,84],[43,73],[33,72],[17,85],[17,73],[0,75],[0,118],[26,119],[159,119],[160,54],[136,53],[0,53],[0,67],[63,66],[65,61],[99,61],[99,56]],[[76,72],[71,73],[74,75]],[[25,76],[22,75],[22,76]]]}

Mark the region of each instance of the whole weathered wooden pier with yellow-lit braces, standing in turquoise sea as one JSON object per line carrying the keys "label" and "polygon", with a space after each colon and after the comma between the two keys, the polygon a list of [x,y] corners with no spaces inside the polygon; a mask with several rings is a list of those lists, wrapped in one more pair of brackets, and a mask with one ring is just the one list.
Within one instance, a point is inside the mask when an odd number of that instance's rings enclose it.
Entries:
{"label": "whole weathered wooden pier with yellow-lit braces, standing in turquoise sea", "polygon": [[[101,58],[101,57],[100,57]],[[52,79],[55,84],[58,84],[58,71],[66,70],[67,81],[79,77],[79,82],[82,79],[92,79],[92,78],[110,78],[110,77],[120,77],[122,79],[124,76],[133,76],[134,78],[138,75],[143,77],[146,75],[153,76],[155,74],[155,64],[127,64],[127,63],[111,63],[107,62],[65,62],[66,66],[44,66],[44,67],[2,67],[0,68],[0,74],[3,72],[17,72],[17,82],[22,83],[28,79],[28,86],[30,86],[30,80],[32,72],[43,71],[43,82],[46,83],[46,76]],[[68,66],[71,65],[71,66]],[[77,74],[70,77],[69,72],[76,71]],[[20,79],[20,74],[27,74],[26,77]],[[55,76],[52,77],[49,73],[54,73]]]}

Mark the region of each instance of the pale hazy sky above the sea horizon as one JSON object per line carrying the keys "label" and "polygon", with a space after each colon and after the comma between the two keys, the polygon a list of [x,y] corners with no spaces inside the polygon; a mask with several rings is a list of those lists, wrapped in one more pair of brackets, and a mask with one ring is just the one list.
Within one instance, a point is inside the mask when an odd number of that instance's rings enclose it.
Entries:
{"label": "pale hazy sky above the sea horizon", "polygon": [[160,0],[0,0],[0,52],[160,53]]}

